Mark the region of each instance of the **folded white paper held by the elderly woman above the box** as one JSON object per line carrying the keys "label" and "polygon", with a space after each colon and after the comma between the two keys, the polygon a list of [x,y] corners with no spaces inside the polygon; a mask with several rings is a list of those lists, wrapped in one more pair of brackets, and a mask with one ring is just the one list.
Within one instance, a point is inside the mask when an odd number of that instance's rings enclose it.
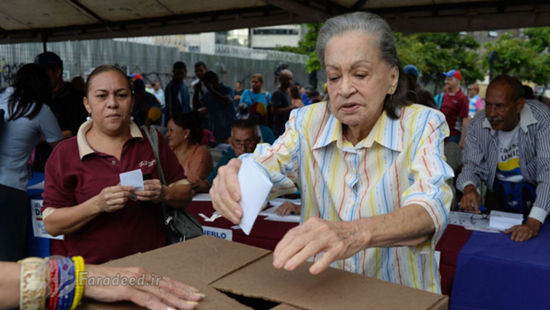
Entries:
{"label": "folded white paper held by the elderly woman above the box", "polygon": [[238,179],[241,188],[239,203],[243,208],[243,217],[239,225],[241,225],[243,232],[249,235],[260,210],[262,210],[267,200],[273,183],[258,164],[250,158],[243,160]]}

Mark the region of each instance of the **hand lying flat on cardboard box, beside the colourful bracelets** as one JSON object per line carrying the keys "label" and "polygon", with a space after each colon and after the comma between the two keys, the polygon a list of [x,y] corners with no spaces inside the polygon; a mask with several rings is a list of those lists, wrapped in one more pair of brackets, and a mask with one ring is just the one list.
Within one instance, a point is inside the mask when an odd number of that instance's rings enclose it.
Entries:
{"label": "hand lying flat on cardboard box, beside the colourful bracelets", "polygon": [[[102,302],[131,301],[139,306],[151,310],[195,309],[197,302],[204,297],[196,289],[169,278],[151,275],[143,268],[119,268],[107,266],[86,265],[84,277],[84,296]],[[98,277],[119,278],[119,285],[103,286],[103,280]],[[128,281],[126,285],[120,284],[123,278],[140,279],[144,281]],[[94,284],[92,284],[94,279]],[[112,281],[112,280],[111,280]],[[133,285],[132,285],[133,284]]]}

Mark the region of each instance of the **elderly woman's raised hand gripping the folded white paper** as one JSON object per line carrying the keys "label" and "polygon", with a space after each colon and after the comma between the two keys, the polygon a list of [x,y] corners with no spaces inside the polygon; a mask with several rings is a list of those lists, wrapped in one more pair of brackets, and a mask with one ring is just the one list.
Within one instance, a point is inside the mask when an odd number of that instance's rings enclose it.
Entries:
{"label": "elderly woman's raised hand gripping the folded white paper", "polygon": [[238,202],[241,199],[241,189],[237,178],[241,163],[239,159],[232,159],[227,165],[220,167],[210,188],[214,209],[233,224],[239,224],[243,215],[243,209]]}

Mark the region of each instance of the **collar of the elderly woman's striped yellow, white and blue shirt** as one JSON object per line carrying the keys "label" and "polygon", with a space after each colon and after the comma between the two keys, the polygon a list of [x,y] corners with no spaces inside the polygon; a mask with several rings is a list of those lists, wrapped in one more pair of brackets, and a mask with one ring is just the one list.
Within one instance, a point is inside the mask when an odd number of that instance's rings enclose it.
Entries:
{"label": "collar of the elderly woman's striped yellow, white and blue shirt", "polygon": [[[401,113],[403,113],[403,111],[401,111]],[[354,148],[369,148],[374,142],[377,142],[386,148],[399,152],[403,149],[401,141],[402,135],[401,119],[391,119],[386,111],[383,111],[369,135],[365,139],[359,141]],[[317,141],[315,141],[313,149],[326,147],[334,141],[336,141],[336,146],[338,148],[343,149],[342,123],[334,114],[330,113],[330,117],[321,135],[319,135]]]}

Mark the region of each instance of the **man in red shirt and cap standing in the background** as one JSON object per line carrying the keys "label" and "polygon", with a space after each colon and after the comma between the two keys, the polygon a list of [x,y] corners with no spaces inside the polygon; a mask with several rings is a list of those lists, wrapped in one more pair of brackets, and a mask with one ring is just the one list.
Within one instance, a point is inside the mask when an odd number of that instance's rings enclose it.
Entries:
{"label": "man in red shirt and cap standing in the background", "polygon": [[440,110],[445,115],[451,131],[449,141],[460,145],[464,143],[463,139],[468,127],[468,98],[460,90],[460,81],[462,80],[460,71],[451,70],[443,72],[443,75],[448,91],[443,95]]}

